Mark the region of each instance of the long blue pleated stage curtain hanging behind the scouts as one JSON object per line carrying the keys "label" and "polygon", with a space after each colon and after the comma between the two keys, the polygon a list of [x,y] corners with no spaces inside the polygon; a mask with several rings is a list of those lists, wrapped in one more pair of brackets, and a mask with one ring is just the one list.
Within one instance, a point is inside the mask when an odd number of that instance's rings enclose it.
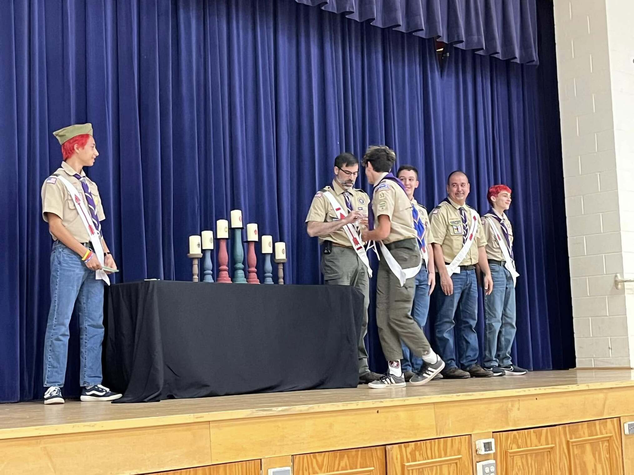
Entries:
{"label": "long blue pleated stage curtain hanging behind the scouts", "polygon": [[[236,208],[287,243],[287,282],[320,282],[304,219],[340,151],[394,147],[422,170],[428,207],[458,165],[481,210],[506,180],[522,233],[517,363],[574,360],[560,149],[547,130],[559,129],[553,48],[545,80],[543,66],[459,49],[441,74],[432,40],[287,0],[19,0],[0,15],[0,44],[0,402],[43,393],[51,239],[40,188],[61,162],[51,132],[78,122],[93,123],[100,157],[87,172],[118,282],[191,279],[188,236]],[[358,186],[370,189],[365,177]],[[78,394],[77,333],[74,321],[65,395]]]}

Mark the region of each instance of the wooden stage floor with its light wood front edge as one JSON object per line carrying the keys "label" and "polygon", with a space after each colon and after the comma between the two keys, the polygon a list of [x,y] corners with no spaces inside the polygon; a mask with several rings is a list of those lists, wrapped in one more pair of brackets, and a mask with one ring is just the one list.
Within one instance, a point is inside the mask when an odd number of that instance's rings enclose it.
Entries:
{"label": "wooden stage floor with its light wood front edge", "polygon": [[[108,460],[113,450],[143,447],[145,453],[157,452],[149,453],[152,462],[148,457],[137,460],[148,462],[143,469],[149,472],[632,413],[634,371],[624,369],[538,371],[386,390],[359,386],[159,403],[29,402],[0,405],[0,452],[13,449],[16,461],[35,459],[38,450],[42,457],[56,450],[75,451],[98,461]],[[100,454],[99,447],[107,450]]]}

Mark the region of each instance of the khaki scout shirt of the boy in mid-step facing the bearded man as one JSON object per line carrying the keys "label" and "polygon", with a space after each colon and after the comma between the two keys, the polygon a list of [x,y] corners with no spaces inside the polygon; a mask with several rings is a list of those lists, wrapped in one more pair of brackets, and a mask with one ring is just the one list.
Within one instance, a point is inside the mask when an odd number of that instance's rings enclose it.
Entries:
{"label": "khaki scout shirt of the boy in mid-step facing the bearded man", "polygon": [[389,236],[383,240],[384,244],[416,238],[410,198],[397,183],[392,180],[383,180],[385,175],[387,173],[383,174],[377,181],[372,195],[374,226],[375,228],[378,226],[380,215],[389,217],[391,229]]}

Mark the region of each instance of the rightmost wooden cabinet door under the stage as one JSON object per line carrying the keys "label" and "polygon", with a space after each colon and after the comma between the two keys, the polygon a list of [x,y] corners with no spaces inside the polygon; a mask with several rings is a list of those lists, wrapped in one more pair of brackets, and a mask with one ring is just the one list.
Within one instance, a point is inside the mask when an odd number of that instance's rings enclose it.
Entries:
{"label": "rightmost wooden cabinet door under the stage", "polygon": [[619,419],[561,426],[571,475],[623,475]]}

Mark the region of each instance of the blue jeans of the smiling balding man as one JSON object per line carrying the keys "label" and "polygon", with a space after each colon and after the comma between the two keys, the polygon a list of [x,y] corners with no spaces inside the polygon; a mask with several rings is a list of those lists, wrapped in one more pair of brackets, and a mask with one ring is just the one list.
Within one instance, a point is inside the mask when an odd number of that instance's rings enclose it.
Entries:
{"label": "blue jeans of the smiling balding man", "polygon": [[[461,270],[451,276],[453,294],[444,295],[440,277],[436,276],[436,345],[446,369],[457,367],[454,335],[458,339],[460,367],[467,369],[477,362],[477,281],[475,270]],[[494,286],[495,287],[495,286]],[[455,318],[455,322],[454,322]],[[456,331],[454,331],[456,326]]]}

